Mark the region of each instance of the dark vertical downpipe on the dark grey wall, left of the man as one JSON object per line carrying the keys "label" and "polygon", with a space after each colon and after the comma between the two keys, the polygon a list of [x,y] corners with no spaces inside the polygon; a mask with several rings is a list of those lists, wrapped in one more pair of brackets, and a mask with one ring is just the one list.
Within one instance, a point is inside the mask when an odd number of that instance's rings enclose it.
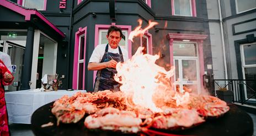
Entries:
{"label": "dark vertical downpipe on the dark grey wall, left of the man", "polygon": [[[71,1],[71,13],[70,13],[70,31],[69,31],[69,34],[70,34],[70,37],[68,39],[68,42],[69,42],[69,45],[68,46],[68,50],[67,50],[67,61],[70,62],[70,50],[71,50],[71,40],[72,40],[72,30],[73,30],[73,7],[74,7],[74,0]],[[71,76],[72,77],[72,76]],[[72,88],[72,85],[70,86],[69,84],[69,81],[70,81],[70,65],[67,63],[67,89],[70,89]]]}

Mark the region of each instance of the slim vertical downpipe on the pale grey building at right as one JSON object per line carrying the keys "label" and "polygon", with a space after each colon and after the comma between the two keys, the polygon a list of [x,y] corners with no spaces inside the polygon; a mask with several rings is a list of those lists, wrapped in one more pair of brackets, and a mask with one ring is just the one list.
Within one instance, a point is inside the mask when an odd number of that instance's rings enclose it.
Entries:
{"label": "slim vertical downpipe on the pale grey building at right", "polygon": [[[226,59],[226,50],[225,50],[225,41],[224,41],[224,32],[223,32],[223,21],[222,21],[222,12],[221,12],[221,3],[218,0],[218,14],[220,16],[220,28],[221,28],[221,42],[222,42],[222,52],[223,52],[223,61],[224,61],[224,73],[225,79],[227,79],[227,59]],[[227,84],[227,81],[226,81]]]}

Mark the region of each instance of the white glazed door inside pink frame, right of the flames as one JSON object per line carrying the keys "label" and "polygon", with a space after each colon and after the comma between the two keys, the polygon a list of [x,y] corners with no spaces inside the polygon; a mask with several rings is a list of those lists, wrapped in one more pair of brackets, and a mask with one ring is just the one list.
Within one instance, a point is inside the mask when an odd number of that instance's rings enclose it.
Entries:
{"label": "white glazed door inside pink frame, right of the flames", "polygon": [[198,49],[196,43],[174,42],[175,90],[200,93]]}

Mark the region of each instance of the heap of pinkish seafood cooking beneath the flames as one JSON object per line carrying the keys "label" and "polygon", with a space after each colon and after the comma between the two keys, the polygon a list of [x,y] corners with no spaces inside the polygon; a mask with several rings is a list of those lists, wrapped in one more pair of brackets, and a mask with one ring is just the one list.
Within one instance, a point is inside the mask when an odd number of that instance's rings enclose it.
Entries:
{"label": "heap of pinkish seafood cooking beneath the flames", "polygon": [[[178,102],[175,97],[184,97],[186,101]],[[86,116],[84,126],[88,129],[137,133],[143,128],[191,128],[205,122],[206,118],[217,118],[230,109],[226,102],[214,96],[189,94],[185,97],[176,94],[175,97],[166,96],[169,99],[158,103],[159,111],[156,112],[135,105],[131,97],[121,91],[77,93],[56,100],[51,111],[57,118],[57,126],[60,122],[77,123]]]}

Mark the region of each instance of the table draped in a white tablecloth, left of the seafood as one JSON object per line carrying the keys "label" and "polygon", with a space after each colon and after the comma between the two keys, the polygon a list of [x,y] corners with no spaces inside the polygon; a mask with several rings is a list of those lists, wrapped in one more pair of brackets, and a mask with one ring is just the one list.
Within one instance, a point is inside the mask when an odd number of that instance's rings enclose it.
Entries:
{"label": "table draped in a white tablecloth, left of the seafood", "polygon": [[39,107],[59,99],[63,95],[72,96],[86,90],[33,91],[22,90],[5,93],[9,122],[30,124],[33,112]]}

